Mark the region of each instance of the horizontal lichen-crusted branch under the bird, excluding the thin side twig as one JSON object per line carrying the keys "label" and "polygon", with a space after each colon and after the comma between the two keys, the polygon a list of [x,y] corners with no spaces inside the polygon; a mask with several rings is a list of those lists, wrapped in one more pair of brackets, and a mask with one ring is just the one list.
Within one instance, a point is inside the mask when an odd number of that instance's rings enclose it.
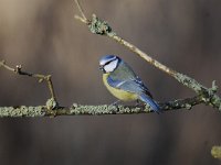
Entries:
{"label": "horizontal lichen-crusted branch under the bird, excluding the thin side twig", "polygon": [[[179,99],[159,103],[164,111],[179,110],[186,108],[190,110],[192,106],[201,102],[201,97],[192,97],[187,99]],[[36,107],[0,107],[0,118],[18,118],[18,117],[56,117],[56,116],[103,116],[103,114],[135,114],[135,113],[149,113],[152,112],[148,106],[88,106],[73,103],[72,107],[51,107],[50,99],[46,106]]]}

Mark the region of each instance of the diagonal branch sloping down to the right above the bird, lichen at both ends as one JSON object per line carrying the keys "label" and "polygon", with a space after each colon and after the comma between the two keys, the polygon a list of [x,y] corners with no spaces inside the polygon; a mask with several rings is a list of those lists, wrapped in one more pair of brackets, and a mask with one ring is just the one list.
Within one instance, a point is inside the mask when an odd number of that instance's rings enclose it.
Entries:
{"label": "diagonal branch sloping down to the right above the bird, lichen at both ends", "polygon": [[158,69],[162,70],[164,73],[170,75],[176,80],[178,80],[180,84],[182,84],[183,86],[193,90],[197,94],[197,96],[201,96],[201,103],[203,102],[203,103],[209,105],[209,106],[213,107],[214,109],[218,109],[219,111],[221,111],[221,98],[215,94],[218,90],[218,87],[214,84],[215,81],[212,82],[211,88],[207,88],[203,85],[201,85],[200,82],[198,82],[197,80],[194,80],[193,78],[167,67],[166,65],[159,63],[158,61],[156,61],[152,57],[150,57],[149,55],[147,55],[145,52],[140,51],[138,47],[136,47],[131,43],[129,43],[129,42],[125,41],[124,38],[122,38],[120,36],[118,36],[112,30],[112,28],[108,25],[108,23],[106,21],[101,20],[95,14],[92,14],[92,20],[87,19],[77,0],[75,0],[75,3],[77,4],[77,8],[81,12],[81,16],[75,15],[75,19],[85,23],[92,33],[108,36],[109,38],[124,45],[126,48],[130,50],[131,52],[134,52],[135,54],[140,56],[143,59],[145,59],[152,66],[155,66]]}

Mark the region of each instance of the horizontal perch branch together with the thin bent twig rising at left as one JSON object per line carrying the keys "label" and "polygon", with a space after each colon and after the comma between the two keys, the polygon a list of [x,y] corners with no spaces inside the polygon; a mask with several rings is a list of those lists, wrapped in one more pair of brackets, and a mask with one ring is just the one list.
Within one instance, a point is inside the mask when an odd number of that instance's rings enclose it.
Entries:
{"label": "horizontal perch branch together with the thin bent twig rising at left", "polygon": [[[133,113],[149,113],[152,112],[148,106],[82,106],[73,103],[74,106],[71,108],[60,107],[59,102],[56,102],[55,94],[51,80],[51,75],[41,75],[41,74],[30,74],[23,72],[21,65],[17,65],[17,68],[12,68],[6,64],[4,61],[0,62],[0,67],[4,67],[6,69],[13,72],[18,75],[29,76],[33,78],[38,78],[39,81],[46,81],[48,87],[51,94],[51,98],[48,99],[45,106],[38,107],[0,107],[0,118],[4,117],[56,117],[56,116],[80,116],[80,114],[88,114],[88,116],[101,116],[101,114],[133,114]],[[178,99],[164,103],[159,103],[160,109],[164,111],[169,110],[178,110],[186,108],[190,110],[193,106],[202,102],[202,97],[200,95],[187,98],[187,99]]]}

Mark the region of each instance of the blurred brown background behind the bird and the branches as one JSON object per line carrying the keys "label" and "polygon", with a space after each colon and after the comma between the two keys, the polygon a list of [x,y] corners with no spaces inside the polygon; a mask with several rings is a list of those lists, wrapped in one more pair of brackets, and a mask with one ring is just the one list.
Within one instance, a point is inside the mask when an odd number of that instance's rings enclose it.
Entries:
{"label": "blurred brown background behind the bird and the branches", "polygon": [[[90,16],[108,21],[124,38],[171,68],[210,87],[221,86],[220,0],[82,0]],[[0,59],[52,74],[62,106],[115,101],[102,84],[98,59],[117,54],[148,85],[156,100],[193,96],[122,45],[91,34],[74,19],[73,0],[0,0]],[[0,68],[0,106],[38,106],[45,84]],[[221,114],[197,106],[157,116],[0,119],[2,165],[220,164]]]}

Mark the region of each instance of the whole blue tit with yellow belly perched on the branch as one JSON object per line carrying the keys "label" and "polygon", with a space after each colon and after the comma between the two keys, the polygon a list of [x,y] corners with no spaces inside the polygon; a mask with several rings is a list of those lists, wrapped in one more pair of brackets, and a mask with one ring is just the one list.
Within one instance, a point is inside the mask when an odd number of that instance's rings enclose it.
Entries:
{"label": "whole blue tit with yellow belly perched on the branch", "polygon": [[122,58],[105,55],[99,59],[99,69],[103,70],[104,85],[116,98],[123,101],[141,100],[155,112],[160,111],[148,88]]}

